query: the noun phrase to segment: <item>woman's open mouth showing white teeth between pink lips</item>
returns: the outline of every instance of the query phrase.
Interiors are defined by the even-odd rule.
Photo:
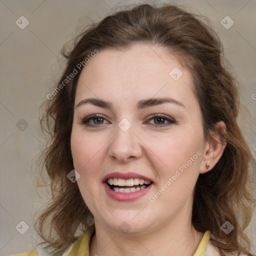
[[[140,178],[108,178],[106,184],[115,192],[129,193],[145,189],[152,182]]]

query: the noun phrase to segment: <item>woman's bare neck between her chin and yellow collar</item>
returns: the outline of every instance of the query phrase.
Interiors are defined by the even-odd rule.
[[[171,221],[162,222],[158,228],[139,234],[117,233],[95,219],[95,235],[91,239],[89,255],[193,256],[203,233],[194,229],[190,216],[183,217],[177,215]]]

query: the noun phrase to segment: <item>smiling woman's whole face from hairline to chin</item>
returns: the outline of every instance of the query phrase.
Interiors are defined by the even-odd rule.
[[[101,50],[82,69],[71,151],[95,223],[146,233],[191,221],[205,147],[191,88],[188,70],[154,45]]]

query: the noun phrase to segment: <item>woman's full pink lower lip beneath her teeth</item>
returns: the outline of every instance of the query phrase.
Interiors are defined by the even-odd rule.
[[[147,186],[144,189],[140,189],[138,191],[128,192],[128,193],[115,192],[106,183],[103,183],[103,185],[105,187],[107,195],[112,199],[116,201],[132,201],[142,197],[147,192],[149,192],[153,183],[151,183],[149,186]]]

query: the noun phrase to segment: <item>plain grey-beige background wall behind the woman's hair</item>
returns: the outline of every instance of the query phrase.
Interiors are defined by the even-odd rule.
[[[255,118],[256,1],[176,2],[188,4],[212,21],[241,83],[242,102]],[[30,168],[33,157],[43,148],[38,107],[59,75],[61,46],[73,38],[80,25],[102,18],[122,3],[132,1],[0,0],[0,255],[27,251],[39,241],[32,216],[47,196],[37,196],[35,173]],[[22,15],[29,21],[24,29],[15,24]],[[229,29],[220,23],[227,15],[234,21]],[[255,121],[241,122],[241,125],[254,153]],[[253,254],[256,254],[255,219],[254,214],[248,228],[254,236]],[[29,226],[24,234],[15,228],[20,221]],[[21,223],[21,226],[24,230],[25,225]]]

